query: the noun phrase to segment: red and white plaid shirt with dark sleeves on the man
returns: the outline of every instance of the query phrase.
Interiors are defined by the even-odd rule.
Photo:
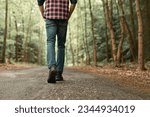
[[[68,19],[69,0],[37,0],[41,6],[45,2],[44,17],[46,19]],[[76,4],[77,0],[70,0],[71,4]]]

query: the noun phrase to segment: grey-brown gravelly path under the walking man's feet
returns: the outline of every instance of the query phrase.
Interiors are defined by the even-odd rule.
[[[150,99],[140,89],[90,73],[65,69],[65,81],[56,84],[48,84],[47,76],[46,67],[0,71],[0,99]]]

